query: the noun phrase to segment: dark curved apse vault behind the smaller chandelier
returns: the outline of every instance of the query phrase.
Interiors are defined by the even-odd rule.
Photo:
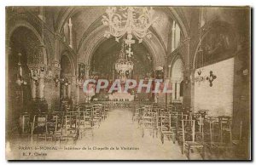
[[[121,43],[117,43],[114,38],[102,42],[96,48],[91,60],[92,71],[97,71],[105,75],[111,75],[113,65],[119,58]],[[131,46],[133,55],[131,61],[134,63],[135,75],[146,75],[146,73],[154,70],[153,57],[149,54],[148,48],[143,43]]]

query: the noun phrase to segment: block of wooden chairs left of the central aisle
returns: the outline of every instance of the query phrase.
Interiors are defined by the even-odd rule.
[[[32,116],[21,116],[21,133],[29,134],[32,143],[35,139],[45,141],[67,141],[92,137],[93,129],[99,128],[108,117],[109,105],[87,104],[75,105],[73,111],[53,111]],[[28,127],[29,126],[29,127]]]

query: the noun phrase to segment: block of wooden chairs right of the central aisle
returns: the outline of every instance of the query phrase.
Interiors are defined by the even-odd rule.
[[[177,141],[182,146],[182,153],[189,159],[192,151],[199,151],[204,159],[206,149],[217,149],[220,154],[220,151],[230,151],[233,147],[231,117],[209,117],[208,110],[192,113],[183,107],[135,105],[132,120],[139,123],[143,136],[148,129],[153,137],[160,132],[162,144],[165,139],[173,143]]]

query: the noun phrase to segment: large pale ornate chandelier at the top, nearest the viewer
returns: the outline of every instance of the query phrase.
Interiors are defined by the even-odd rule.
[[[148,28],[158,20],[154,18],[152,7],[108,7],[106,14],[102,16],[102,23],[109,27],[109,31],[105,31],[104,37],[113,36],[119,42],[125,36],[129,48],[135,43],[133,36],[139,43],[143,42],[143,37],[152,37]]]

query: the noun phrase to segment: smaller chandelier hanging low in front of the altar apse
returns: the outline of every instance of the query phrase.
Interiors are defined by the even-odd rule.
[[[126,51],[127,52],[127,51]],[[130,60],[128,54],[125,54],[125,42],[123,42],[119,52],[119,59],[115,62],[115,70],[119,74],[119,78],[124,81],[127,75],[131,74],[133,70],[133,62]]]

